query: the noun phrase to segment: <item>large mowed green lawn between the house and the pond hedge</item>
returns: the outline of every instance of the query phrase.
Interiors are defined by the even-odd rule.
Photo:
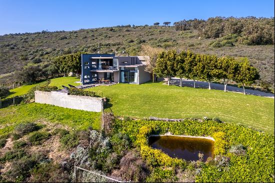
[[[110,98],[115,115],[132,117],[209,118],[241,123],[274,134],[274,99],[160,82],[115,84],[87,90]],[[101,94],[100,94],[101,95]]]

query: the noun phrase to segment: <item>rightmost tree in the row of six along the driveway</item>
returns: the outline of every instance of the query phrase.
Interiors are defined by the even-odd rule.
[[[246,57],[241,58],[238,63],[237,72],[234,76],[234,80],[238,85],[242,85],[243,94],[245,93],[245,86],[253,84],[257,79],[259,79],[259,73],[257,69],[250,65]]]

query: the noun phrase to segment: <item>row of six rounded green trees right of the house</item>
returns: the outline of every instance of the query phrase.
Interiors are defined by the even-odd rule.
[[[245,86],[251,85],[256,79],[259,79],[258,71],[251,66],[247,58],[236,60],[233,57],[217,57],[216,55],[198,54],[189,50],[177,53],[175,50],[161,51],[158,53],[153,72],[157,76],[166,76],[168,85],[171,76],[180,78],[180,86],[182,86],[182,78],[208,81],[210,83],[214,79],[222,79],[224,83],[224,91],[228,81],[235,81],[243,87],[245,94]]]

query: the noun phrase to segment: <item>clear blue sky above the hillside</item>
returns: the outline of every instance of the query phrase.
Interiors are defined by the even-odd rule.
[[[0,35],[214,16],[271,17],[274,0],[0,0]]]

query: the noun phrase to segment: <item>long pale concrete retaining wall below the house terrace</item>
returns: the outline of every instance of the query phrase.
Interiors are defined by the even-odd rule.
[[[35,91],[35,102],[46,103],[65,108],[100,112],[102,98],[90,96],[69,95],[63,92]]]

